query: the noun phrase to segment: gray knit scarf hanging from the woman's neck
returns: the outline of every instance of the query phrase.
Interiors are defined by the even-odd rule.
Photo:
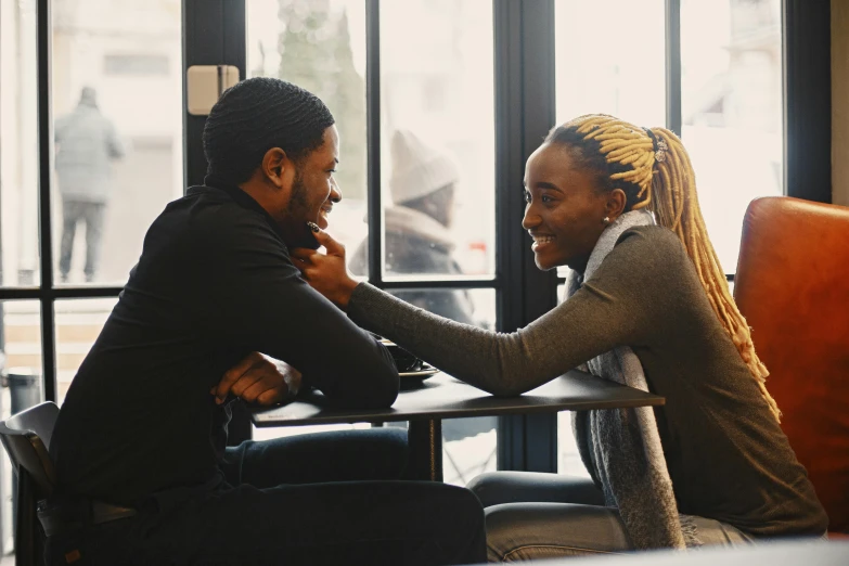
[[[602,232],[583,276],[573,272],[567,299],[590,280],[622,232],[654,224],[652,214],[632,210]],[[580,368],[612,382],[648,390],[640,359],[628,346],[618,346]],[[672,480],[660,446],[654,410],[605,409],[573,413],[573,429],[581,460],[604,492],[605,505],[617,507],[636,549],[699,545],[695,525],[679,516]]]

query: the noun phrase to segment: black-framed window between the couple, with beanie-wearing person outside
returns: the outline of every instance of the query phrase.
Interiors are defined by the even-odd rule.
[[[492,11],[472,0],[373,5],[247,2],[248,73],[305,87],[333,112],[344,198],[329,230],[347,243],[351,271],[419,307],[494,329]],[[368,36],[372,25],[378,37]],[[374,40],[380,48],[370,60]],[[380,75],[369,74],[372,61]],[[380,93],[378,116],[366,111],[370,89]],[[381,139],[371,156],[370,129]],[[370,177],[377,159],[380,173],[374,168]],[[371,230],[375,220],[380,233]],[[370,257],[375,240],[378,261]],[[494,419],[446,423],[446,479],[494,469]]]

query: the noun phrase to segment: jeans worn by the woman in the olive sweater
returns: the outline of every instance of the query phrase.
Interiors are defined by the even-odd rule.
[[[494,472],[468,488],[486,507],[489,562],[518,562],[633,550],[616,509],[590,479]],[[749,543],[752,537],[718,520],[693,517],[705,545]]]

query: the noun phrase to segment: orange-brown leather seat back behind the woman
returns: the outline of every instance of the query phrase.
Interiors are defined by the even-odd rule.
[[[828,530],[849,532],[849,208],[752,201],[734,297]]]

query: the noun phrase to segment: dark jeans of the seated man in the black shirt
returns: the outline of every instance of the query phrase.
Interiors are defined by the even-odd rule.
[[[480,502],[466,489],[398,480],[406,458],[406,433],[388,428],[244,442],[221,466],[228,485],[158,494],[138,516],[91,528],[88,562],[75,564],[484,562]],[[65,564],[69,548],[52,549],[50,564]]]

